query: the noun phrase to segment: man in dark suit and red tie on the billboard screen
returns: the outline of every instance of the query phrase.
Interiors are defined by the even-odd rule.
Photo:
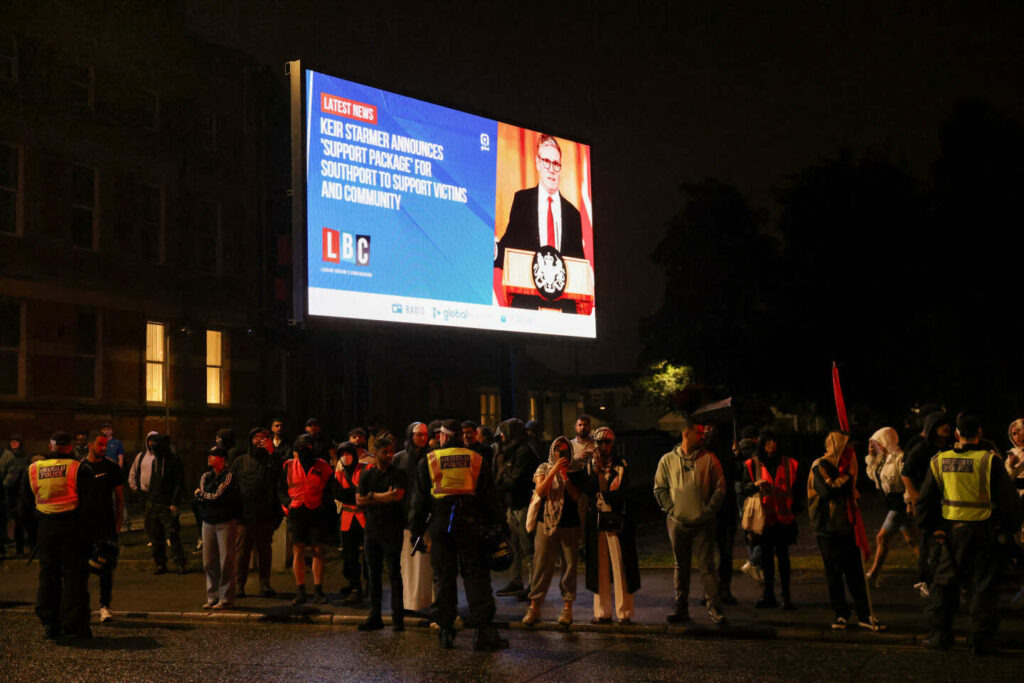
[[[584,258],[583,221],[580,211],[558,191],[562,151],[558,141],[544,135],[537,143],[536,187],[520,189],[512,200],[509,224],[495,249],[495,267],[505,265],[505,249],[537,251],[554,247],[562,256]]]

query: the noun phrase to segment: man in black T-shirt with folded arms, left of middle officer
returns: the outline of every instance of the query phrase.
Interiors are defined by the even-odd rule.
[[[384,628],[381,618],[381,594],[384,563],[391,580],[391,627],[406,630],[406,605],[401,585],[401,535],[404,530],[401,501],[408,483],[406,471],[394,466],[394,442],[390,434],[374,441],[375,467],[360,477],[355,503],[366,510],[367,528],[364,549],[370,573],[370,614],[359,625],[360,631]]]

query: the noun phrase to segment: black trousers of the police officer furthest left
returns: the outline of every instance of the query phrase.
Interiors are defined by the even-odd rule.
[[[45,627],[80,633],[89,627],[89,536],[77,517],[44,518],[37,533],[36,615]]]

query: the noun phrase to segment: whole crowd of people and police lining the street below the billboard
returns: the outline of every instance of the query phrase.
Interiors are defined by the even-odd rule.
[[[36,609],[47,638],[91,635],[90,567],[99,574],[100,621],[112,618],[127,481],[143,504],[158,574],[168,571],[168,549],[176,569],[187,571],[180,512],[190,503],[200,530],[206,609],[227,609],[246,598],[253,562],[258,574],[253,594],[276,596],[270,585],[271,541],[287,520],[296,585],[292,604],[331,599],[324,552],[338,546],[344,580],[338,599],[368,607],[360,630],[384,628],[386,567],[392,629],[404,630],[409,613],[426,615],[441,647],[453,647],[461,574],[469,601],[466,626],[476,629],[474,646],[494,650],[508,645],[493,625],[494,596],[527,603],[522,623],[538,624],[556,566],[557,623],[573,623],[581,552],[587,560],[584,585],[594,594],[591,622],[633,622],[634,595],[641,588],[635,489],[614,431],[592,430],[592,423],[581,415],[571,438],[556,436],[545,447],[540,425],[518,419],[502,422],[496,432],[471,421],[413,422],[400,443],[386,430],[362,427],[336,441],[315,418],[289,439],[284,421],[273,420],[268,428],[251,429],[240,445],[231,430],[217,432],[206,454],[208,468],[195,486],[186,485],[185,468],[166,434],[150,432],[130,463],[111,425],[92,435],[57,432],[51,453],[32,458],[15,434],[0,456],[3,530],[15,553],[33,547],[38,552]],[[748,552],[742,570],[763,584],[755,606],[796,609],[790,547],[806,507],[824,565],[833,629],[885,630],[869,585],[880,581],[891,540],[900,531],[919,558],[914,588],[930,600],[926,645],[951,645],[953,614],[966,590],[972,647],[991,648],[1000,568],[1019,556],[1017,542],[1024,541],[1018,496],[1024,489],[1024,420],[1010,426],[1005,460],[969,415],[954,421],[940,411],[930,413],[905,455],[895,429],[876,431],[864,469],[887,515],[869,568],[858,507],[860,466],[849,434],[827,435],[824,455],[810,464],[806,480],[770,429],[744,428],[731,447],[722,436],[714,425],[684,417],[680,443],[660,458],[654,474],[653,496],[666,515],[675,559],[669,623],[691,620],[694,555],[708,618],[726,623],[725,606],[737,602],[732,556],[740,529]],[[6,545],[6,540],[0,544],[0,552]],[[488,554],[499,546],[511,549],[511,561],[502,564],[510,568],[510,579],[495,592]]]

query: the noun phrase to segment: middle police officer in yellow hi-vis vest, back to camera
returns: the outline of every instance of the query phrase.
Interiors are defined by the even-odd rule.
[[[424,532],[429,537],[440,646],[455,647],[456,578],[461,571],[469,601],[466,626],[476,628],[473,647],[496,650],[509,643],[494,626],[495,598],[482,540],[488,525],[502,523],[502,514],[490,466],[480,454],[462,445],[461,433],[458,420],[445,420],[439,447],[420,462],[410,528],[414,539],[422,539]]]

